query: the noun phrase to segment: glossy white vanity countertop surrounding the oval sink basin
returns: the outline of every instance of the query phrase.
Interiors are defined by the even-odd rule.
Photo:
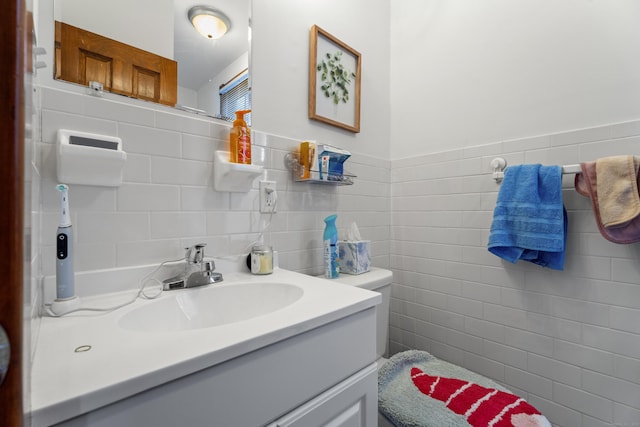
[[[224,274],[224,270],[222,271]],[[54,424],[250,351],[373,307],[376,292],[275,269],[273,274],[224,274],[224,285],[281,282],[304,289],[295,303],[259,317],[202,329],[132,331],[118,325],[127,313],[154,301],[138,299],[107,314],[72,313],[41,319],[32,366],[32,426]],[[209,285],[217,286],[217,285]],[[184,289],[164,292],[169,298]],[[127,300],[132,291],[82,299]],[[111,302],[113,304],[113,302]],[[89,351],[76,352],[80,346]]]

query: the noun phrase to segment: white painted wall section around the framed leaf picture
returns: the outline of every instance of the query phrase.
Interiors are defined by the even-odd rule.
[[[253,2],[256,129],[389,157],[389,1]],[[309,30],[318,25],[362,54],[361,131],[308,119]]]

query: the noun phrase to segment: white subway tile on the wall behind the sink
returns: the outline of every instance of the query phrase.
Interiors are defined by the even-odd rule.
[[[227,149],[230,125],[143,103],[55,88],[38,91],[41,176],[35,181],[42,228],[35,250],[41,275],[55,272],[55,141],[60,128],[119,136],[128,157],[119,188],[70,185],[77,271],[160,263],[180,258],[185,246],[197,242],[207,243],[211,256],[247,253],[247,245],[268,223],[269,215],[258,209],[259,179],[248,193],[213,188],[214,152]],[[253,162],[265,167],[262,179],[277,182],[278,212],[265,241],[280,252],[282,267],[321,273],[323,218],[331,213],[338,214],[343,233],[356,221],[373,241],[374,265],[389,266],[390,161],[355,154],[348,168],[358,177],[350,187],[294,183],[285,155],[299,141],[255,132],[253,142]]]

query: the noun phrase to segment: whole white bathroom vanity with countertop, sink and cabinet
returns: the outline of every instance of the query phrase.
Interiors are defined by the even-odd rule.
[[[376,425],[379,294],[281,269],[223,274],[108,314],[43,318],[32,426]],[[209,314],[223,311],[214,297],[231,320]]]

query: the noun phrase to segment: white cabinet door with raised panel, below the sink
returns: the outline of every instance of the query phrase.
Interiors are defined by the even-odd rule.
[[[377,372],[374,363],[267,427],[376,426]]]

